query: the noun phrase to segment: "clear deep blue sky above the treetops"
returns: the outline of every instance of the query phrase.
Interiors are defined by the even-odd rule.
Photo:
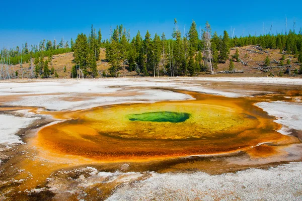
[[[165,32],[169,38],[174,18],[182,32],[184,27],[189,30],[194,19],[202,28],[208,21],[218,35],[223,30],[231,35],[231,27],[237,36],[243,30],[244,35],[260,35],[263,23],[267,33],[271,24],[274,34],[284,33],[285,15],[287,29],[293,29],[295,19],[298,31],[302,27],[302,1],[2,1],[0,48],[22,46],[25,41],[29,45],[43,39],[60,41],[62,37],[70,42],[78,33],[89,34],[91,24],[101,28],[103,39],[109,38],[110,27],[120,24],[130,29],[131,37],[137,30],[142,36],[149,30],[152,36]]]

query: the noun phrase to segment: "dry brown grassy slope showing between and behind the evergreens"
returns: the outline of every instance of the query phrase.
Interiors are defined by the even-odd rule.
[[[280,61],[282,54],[279,53],[279,50],[276,49],[269,49],[268,54],[264,53],[263,54],[258,54],[258,53],[249,53],[249,51],[245,49],[252,49],[253,46],[247,46],[247,47],[240,47],[239,49],[239,58],[243,59],[244,61],[248,61],[248,66],[244,66],[240,62],[234,62],[235,64],[235,69],[236,70],[244,70],[244,73],[235,73],[235,74],[215,74],[215,75],[209,75],[208,73],[199,73],[198,76],[236,76],[236,77],[249,77],[249,76],[267,76],[270,74],[270,72],[262,72],[257,69],[253,69],[253,67],[258,67],[258,64],[255,61],[264,61],[265,57],[269,55],[269,58],[271,61],[273,61],[273,58],[277,61]],[[230,55],[235,54],[235,49],[231,50]],[[247,55],[247,57],[246,57]],[[231,56],[230,56],[231,57]],[[297,64],[297,59],[293,58],[293,55],[285,55],[285,59],[290,58],[290,64],[292,65],[292,69],[294,68],[299,68],[300,65]],[[45,57],[47,59],[47,57]],[[52,57],[52,64],[49,63],[49,69],[51,68],[51,65],[53,65],[54,69],[57,71],[59,78],[70,78],[70,72],[71,72],[71,67],[74,65],[72,63],[73,60],[73,53],[64,53],[64,54],[59,54],[59,55],[54,55]],[[226,63],[218,64],[218,69],[215,71],[222,71],[222,70],[228,70],[229,69],[229,63],[230,61],[226,61]],[[271,64],[271,65],[277,65],[277,64]],[[286,60],[284,61],[284,65],[286,65]],[[66,72],[63,72],[64,66],[66,66]],[[97,69],[99,72],[102,72],[105,69],[108,69],[110,65],[105,59],[105,49],[101,49],[100,52],[100,60],[97,61]],[[15,71],[17,70],[19,73],[19,78],[21,77],[21,67],[19,65],[13,66]],[[276,68],[272,70],[271,72],[275,75],[278,76],[279,68]],[[284,69],[285,70],[285,69]],[[135,72],[128,72],[127,70],[120,70],[120,75],[121,76],[136,76],[137,74]],[[29,75],[29,64],[23,64],[23,77],[27,78]],[[101,75],[99,75],[101,76]],[[288,76],[288,75],[284,75]]]

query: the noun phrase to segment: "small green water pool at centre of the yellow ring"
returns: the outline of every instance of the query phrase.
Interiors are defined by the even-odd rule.
[[[143,122],[184,122],[190,118],[189,113],[176,113],[176,112],[153,112],[128,115],[130,121],[143,121]]]

